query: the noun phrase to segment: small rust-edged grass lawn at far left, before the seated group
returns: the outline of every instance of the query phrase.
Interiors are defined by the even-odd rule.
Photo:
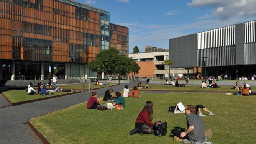
[[[51,97],[56,95],[61,95],[65,93],[71,93],[71,92],[56,92],[53,95],[28,95],[28,92],[26,90],[8,90],[5,92],[2,92],[8,100],[10,100],[12,103],[17,103],[20,101],[26,101],[26,100],[34,100],[38,98],[44,98],[44,97]]]

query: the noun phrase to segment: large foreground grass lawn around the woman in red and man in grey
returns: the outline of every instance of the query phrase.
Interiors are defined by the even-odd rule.
[[[30,119],[30,122],[52,144],[181,144],[167,134],[129,135],[135,120],[146,101],[153,102],[153,121],[167,122],[167,133],[180,126],[187,128],[185,114],[168,112],[169,106],[182,101],[184,105],[201,104],[215,116],[203,117],[205,127],[213,131],[214,144],[251,144],[256,131],[256,111],[251,110],[256,97],[241,97],[222,93],[170,92],[169,94],[145,93],[141,98],[125,98],[124,110],[87,110],[86,103]]]

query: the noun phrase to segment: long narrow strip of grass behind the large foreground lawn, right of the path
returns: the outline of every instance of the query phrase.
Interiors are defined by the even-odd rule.
[[[146,86],[147,84],[143,84],[143,86]],[[200,85],[194,86],[194,85],[189,85],[187,87],[174,87],[174,85],[162,85],[162,84],[148,84],[150,89],[153,90],[202,90],[202,91],[207,91],[207,90],[228,90],[230,92],[234,91],[239,91],[239,90],[234,90],[233,85],[232,86],[220,86],[220,88],[201,88]],[[132,88],[130,88],[131,90]],[[145,90],[150,90],[150,89],[145,89]],[[251,87],[252,91],[256,90],[256,87]]]

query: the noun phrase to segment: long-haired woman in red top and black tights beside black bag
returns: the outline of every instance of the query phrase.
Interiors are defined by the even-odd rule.
[[[151,134],[154,133],[153,129],[151,129],[154,124],[151,123],[153,119],[153,103],[151,101],[147,101],[143,110],[139,113],[136,122],[135,128],[130,131],[130,135],[135,133],[143,134]],[[156,125],[158,125],[159,121],[156,121]]]

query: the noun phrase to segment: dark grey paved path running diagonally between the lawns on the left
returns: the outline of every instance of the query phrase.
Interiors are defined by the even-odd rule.
[[[99,96],[113,88],[114,92],[121,91],[126,84],[95,90]],[[129,83],[132,87],[137,83]],[[160,93],[160,92],[158,92]],[[7,101],[0,95],[0,144],[41,144],[40,139],[27,126],[28,119],[44,115],[53,111],[61,110],[72,105],[85,102],[91,92],[82,92],[74,95],[37,101],[18,106],[8,106]]]

